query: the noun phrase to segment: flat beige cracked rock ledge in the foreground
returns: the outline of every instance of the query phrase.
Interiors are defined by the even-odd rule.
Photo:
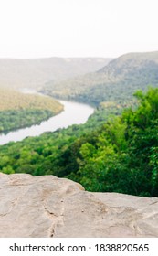
[[[158,198],[90,193],[56,176],[0,174],[0,237],[158,237]]]

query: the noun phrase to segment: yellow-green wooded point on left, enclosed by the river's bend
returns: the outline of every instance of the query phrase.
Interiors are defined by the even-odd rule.
[[[50,97],[0,89],[0,132],[40,123],[62,110]]]

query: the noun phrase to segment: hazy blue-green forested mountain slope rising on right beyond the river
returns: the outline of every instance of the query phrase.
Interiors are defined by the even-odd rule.
[[[42,89],[56,98],[89,102],[128,103],[134,91],[158,86],[158,52],[130,53],[111,62],[98,72],[73,79],[49,81]]]

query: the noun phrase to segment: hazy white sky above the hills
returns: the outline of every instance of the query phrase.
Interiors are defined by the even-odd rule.
[[[0,0],[0,58],[158,50],[157,0]]]

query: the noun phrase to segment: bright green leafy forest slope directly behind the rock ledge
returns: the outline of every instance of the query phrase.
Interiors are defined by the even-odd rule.
[[[90,191],[158,197],[158,89],[137,108],[0,147],[0,170],[71,178]],[[94,127],[96,126],[96,129]]]

